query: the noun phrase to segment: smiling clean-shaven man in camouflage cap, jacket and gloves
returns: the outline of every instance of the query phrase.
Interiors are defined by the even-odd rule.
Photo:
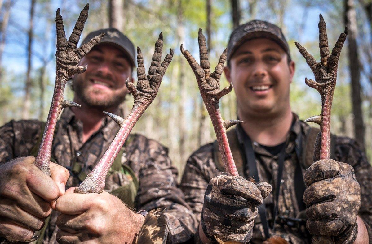
[[[250,191],[251,182],[223,176],[217,141],[202,146],[187,161],[181,182],[200,221],[195,238],[219,243],[263,243],[273,235],[288,243],[371,241],[372,168],[355,141],[332,136],[332,158],[338,162],[318,161],[318,168],[308,171],[312,177],[305,179],[310,185],[305,191],[304,174],[313,163],[320,130],[291,111],[295,63],[280,28],[260,20],[237,27],[224,72],[234,84],[238,119],[244,121],[227,132],[239,175],[267,182],[273,190],[256,208],[262,197]],[[341,165],[337,174],[330,174],[329,162]],[[229,204],[235,201],[239,204]],[[324,241],[324,236],[331,239]]]

